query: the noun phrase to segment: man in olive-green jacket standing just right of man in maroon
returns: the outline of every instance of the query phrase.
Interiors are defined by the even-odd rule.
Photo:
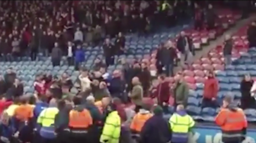
[[[178,82],[174,84],[175,106],[178,104],[182,104],[185,107],[187,106],[188,90],[187,83],[184,81],[184,77],[181,76]]]

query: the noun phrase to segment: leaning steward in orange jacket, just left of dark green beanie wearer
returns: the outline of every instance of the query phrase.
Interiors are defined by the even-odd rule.
[[[139,112],[133,117],[130,125],[132,137],[139,139],[139,134],[144,126],[145,122],[151,118],[153,114],[150,113],[150,105],[144,105],[143,108],[139,109]]]

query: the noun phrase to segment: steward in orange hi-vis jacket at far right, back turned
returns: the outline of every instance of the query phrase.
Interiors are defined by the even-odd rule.
[[[232,97],[223,99],[223,107],[215,118],[221,127],[223,143],[241,143],[246,137],[247,120],[241,108],[232,103]]]

